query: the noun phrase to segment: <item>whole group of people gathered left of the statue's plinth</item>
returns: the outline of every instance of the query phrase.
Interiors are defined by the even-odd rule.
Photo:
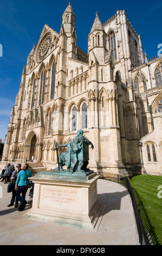
[[[28,178],[31,177],[32,174],[31,174],[31,171],[28,169],[29,168],[28,163],[25,163],[22,169],[21,169],[21,163],[18,163],[16,168],[17,168],[16,170],[14,168],[14,171],[11,172],[10,164],[8,164],[8,166],[4,169],[4,174],[2,173],[1,174],[2,174],[2,178],[4,176],[4,179],[7,176],[6,174],[9,174],[8,175],[9,181],[10,179],[12,181],[12,198],[8,207],[14,205],[15,203],[15,208],[16,208],[18,207],[18,202],[20,202],[21,204],[18,208],[18,211],[23,211],[25,205],[27,204],[27,201],[25,200],[25,196],[30,184],[30,180]],[[7,181],[6,180],[4,183],[8,182],[8,180]]]

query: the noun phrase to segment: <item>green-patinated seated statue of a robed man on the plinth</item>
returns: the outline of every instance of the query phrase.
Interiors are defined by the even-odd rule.
[[[67,147],[66,152],[61,152],[59,154],[59,172],[63,172],[62,167],[64,165],[67,167],[67,170],[64,171],[69,173],[85,173],[86,171],[89,171],[87,168],[89,160],[88,146],[91,145],[92,149],[94,146],[87,137],[83,136],[83,130],[78,130],[76,134],[77,136],[67,144],[59,145],[55,142],[56,150],[57,147]]]

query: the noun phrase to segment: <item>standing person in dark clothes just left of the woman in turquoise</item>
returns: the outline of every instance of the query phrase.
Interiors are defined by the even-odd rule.
[[[15,203],[15,208],[18,206],[18,200],[17,200],[17,197],[16,197],[15,185],[16,185],[16,179],[17,179],[18,173],[21,170],[21,163],[18,163],[16,168],[17,169],[14,170],[14,172],[12,173],[12,176],[11,176],[11,180],[12,180],[12,198],[11,198],[10,204],[8,205],[8,207],[10,207],[10,206],[14,205],[14,203]],[[15,197],[16,197],[16,200],[15,200]]]

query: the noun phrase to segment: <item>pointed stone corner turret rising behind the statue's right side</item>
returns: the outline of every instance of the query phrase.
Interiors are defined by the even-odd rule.
[[[114,80],[112,52],[106,49],[106,32],[98,13],[89,33],[89,129],[94,141],[93,168],[127,173],[121,160],[120,129],[118,121],[118,94]],[[108,148],[113,144],[110,155]],[[112,156],[113,155],[113,156]],[[96,165],[96,166],[95,166]]]

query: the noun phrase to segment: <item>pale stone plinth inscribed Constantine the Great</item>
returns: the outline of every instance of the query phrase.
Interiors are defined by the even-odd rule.
[[[33,207],[29,218],[78,228],[96,228],[105,208],[97,202],[95,173],[85,178],[59,173],[40,173],[30,178],[34,182]],[[96,225],[96,223],[98,224]]]

